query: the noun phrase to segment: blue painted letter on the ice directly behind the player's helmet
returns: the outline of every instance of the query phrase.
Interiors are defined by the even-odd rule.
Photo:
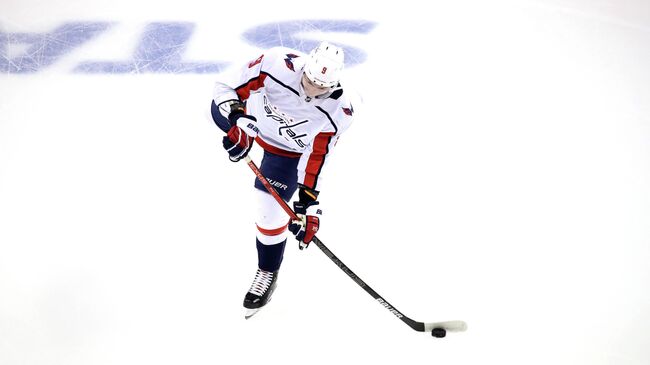
[[[260,48],[284,46],[308,53],[314,49],[321,39],[313,36],[309,39],[309,32],[341,32],[341,33],[370,33],[376,23],[363,20],[296,20],[260,25],[244,32],[243,37],[251,44]],[[345,64],[352,66],[366,60],[366,53],[362,50],[343,46],[345,51]]]

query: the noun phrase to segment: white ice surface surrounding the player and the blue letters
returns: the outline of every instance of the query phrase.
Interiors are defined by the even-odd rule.
[[[120,25],[0,75],[0,364],[650,363],[647,1],[423,3],[2,2],[4,32]],[[244,320],[253,175],[206,119],[214,75],[71,72],[148,22],[194,22],[189,57],[238,63],[261,51],[244,30],[313,18],[377,22],[328,35],[368,59],[319,237],[465,333],[412,331],[293,241]]]

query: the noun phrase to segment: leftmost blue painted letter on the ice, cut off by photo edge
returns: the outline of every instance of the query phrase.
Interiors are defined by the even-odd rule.
[[[3,33],[0,31],[0,71],[33,73],[108,29],[109,23],[66,23],[49,33]],[[27,46],[11,57],[9,47]]]

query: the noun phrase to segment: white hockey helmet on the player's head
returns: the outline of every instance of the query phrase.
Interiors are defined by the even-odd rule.
[[[335,87],[343,71],[343,48],[322,42],[309,53],[305,63],[305,75],[321,87]]]

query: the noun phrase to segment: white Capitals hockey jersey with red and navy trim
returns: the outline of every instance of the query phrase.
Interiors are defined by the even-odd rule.
[[[258,121],[255,141],[268,152],[300,157],[298,183],[319,191],[322,170],[352,123],[354,108],[340,84],[323,96],[305,95],[300,81],[306,57],[293,49],[271,48],[245,65],[238,80],[218,81],[214,102],[224,117],[230,112],[224,107],[227,101],[245,102],[246,113]]]

